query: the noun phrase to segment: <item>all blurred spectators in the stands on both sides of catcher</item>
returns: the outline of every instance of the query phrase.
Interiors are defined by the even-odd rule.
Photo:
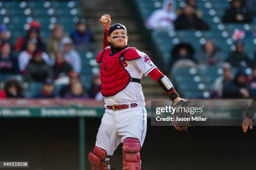
[[[204,14],[197,0],[184,0],[181,6],[177,0],[164,0],[161,8],[155,10],[145,23],[149,30],[211,30],[204,20]],[[183,1],[182,1],[183,2]],[[231,0],[222,17],[224,24],[251,23],[256,15],[256,0]],[[8,28],[0,25],[0,98],[26,97],[26,84],[43,83],[32,97],[102,100],[100,76],[92,76],[91,87],[81,81],[81,49],[90,49],[95,42],[86,20],[79,19],[76,29],[65,35],[65,25],[56,23],[50,37],[42,37],[41,24],[33,20],[24,35],[15,44],[10,42]],[[170,67],[222,67],[223,75],[215,80],[212,98],[256,97],[256,53],[254,59],[248,56],[245,43],[237,38],[235,49],[228,57],[218,44],[210,38],[199,49],[188,42],[180,42],[172,48]],[[233,68],[238,70],[233,71]],[[251,68],[251,75],[246,74]],[[22,79],[10,77],[3,82],[3,75],[20,75]],[[55,90],[56,85],[61,85]]]

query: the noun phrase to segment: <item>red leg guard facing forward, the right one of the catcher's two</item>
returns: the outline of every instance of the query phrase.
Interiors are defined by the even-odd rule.
[[[141,144],[136,138],[123,140],[123,170],[141,170]]]

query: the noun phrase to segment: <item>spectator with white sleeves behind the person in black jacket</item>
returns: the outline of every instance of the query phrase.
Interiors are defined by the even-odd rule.
[[[18,63],[20,72],[24,73],[26,66],[28,65],[29,60],[32,58],[33,52],[37,49],[37,40],[35,38],[31,38],[27,42],[26,50],[21,51],[18,56]],[[42,53],[43,60],[48,65],[54,65],[54,58],[49,58],[49,55],[46,52]]]

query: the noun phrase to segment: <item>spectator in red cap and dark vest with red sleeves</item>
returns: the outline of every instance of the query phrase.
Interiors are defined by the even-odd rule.
[[[29,24],[29,28],[27,30],[25,37],[18,37],[18,40],[15,45],[15,51],[23,51],[26,50],[27,42],[31,38],[35,38],[37,40],[37,49],[41,51],[45,51],[45,44],[43,42],[43,38],[40,37],[40,28],[41,25],[38,21],[34,20]]]

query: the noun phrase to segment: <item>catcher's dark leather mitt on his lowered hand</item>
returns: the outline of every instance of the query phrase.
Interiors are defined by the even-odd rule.
[[[188,104],[189,102],[187,99],[181,99],[177,104],[174,102],[172,103],[172,107],[177,107],[176,111],[172,114],[172,117],[174,118],[172,125],[176,130],[187,131],[187,127],[190,124],[190,119],[187,119],[189,118],[189,112],[186,112]]]

